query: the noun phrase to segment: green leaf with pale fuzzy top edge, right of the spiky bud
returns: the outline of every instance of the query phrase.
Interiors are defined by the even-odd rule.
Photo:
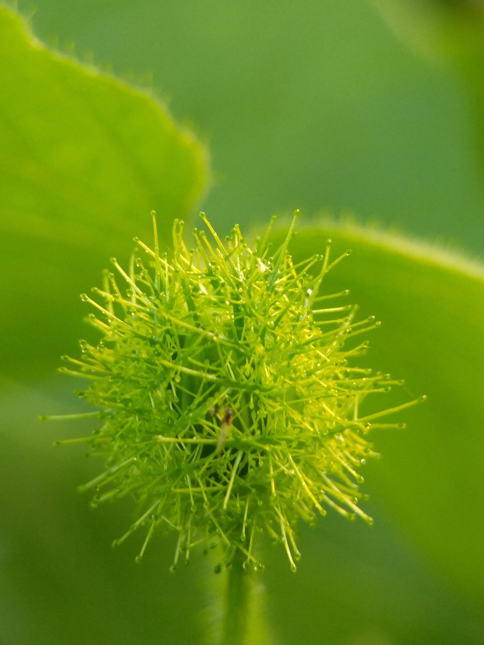
[[[429,396],[405,412],[407,430],[373,433],[383,457],[368,467],[368,490],[431,561],[484,603],[484,266],[328,223],[299,231],[295,260],[321,252],[327,238],[335,257],[353,253],[328,274],[325,292],[350,288],[361,316],[383,321],[365,360],[405,379],[408,399]]]

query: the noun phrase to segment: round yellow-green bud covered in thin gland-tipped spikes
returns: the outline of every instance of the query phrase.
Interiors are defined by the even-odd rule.
[[[351,366],[367,343],[345,342],[379,323],[357,323],[356,306],[332,302],[347,292],[322,293],[344,257],[330,263],[329,243],[292,263],[296,217],[271,255],[270,226],[250,248],[238,226],[223,243],[202,216],[212,239],[194,230],[190,250],[176,222],[174,250],[160,255],[154,220],[154,250],[136,240],[145,260],[133,257],[125,272],[113,259],[119,276],[106,273],[94,290],[102,304],[83,296],[102,340],[81,342],[65,372],[91,380],[81,396],[102,424],[85,441],[106,459],[83,488],[96,491],[94,504],[134,497],[139,515],[115,544],[145,526],[137,559],[154,531],[171,530],[174,566],[199,544],[221,543],[226,564],[238,553],[259,568],[265,531],[296,570],[300,519],[332,508],[372,523],[358,505],[359,466],[375,454],[365,436],[399,408],[359,415],[392,381]]]

